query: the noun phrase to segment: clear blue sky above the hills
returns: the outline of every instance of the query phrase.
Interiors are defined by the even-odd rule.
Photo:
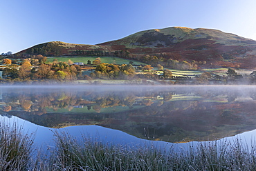
[[[97,44],[172,26],[256,40],[255,0],[1,0],[0,9],[0,53],[48,41]]]

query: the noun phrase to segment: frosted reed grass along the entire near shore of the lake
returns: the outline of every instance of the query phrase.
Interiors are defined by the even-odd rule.
[[[256,170],[255,145],[217,140],[173,144],[114,145],[82,135],[55,131],[55,146],[36,155],[33,136],[17,125],[0,126],[0,170]],[[255,143],[254,143],[255,144]]]

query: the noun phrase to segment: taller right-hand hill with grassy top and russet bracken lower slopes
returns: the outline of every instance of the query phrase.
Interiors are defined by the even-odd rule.
[[[111,50],[152,54],[179,61],[209,61],[214,66],[255,66],[256,41],[220,30],[172,27],[146,30],[116,41],[100,43]]]

